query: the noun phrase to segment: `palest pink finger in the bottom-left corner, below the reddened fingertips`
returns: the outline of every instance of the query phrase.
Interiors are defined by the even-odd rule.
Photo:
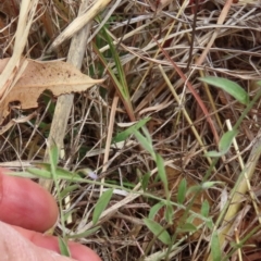
[[[12,226],[0,222],[1,260],[7,261],[73,261],[57,252],[37,247]]]

